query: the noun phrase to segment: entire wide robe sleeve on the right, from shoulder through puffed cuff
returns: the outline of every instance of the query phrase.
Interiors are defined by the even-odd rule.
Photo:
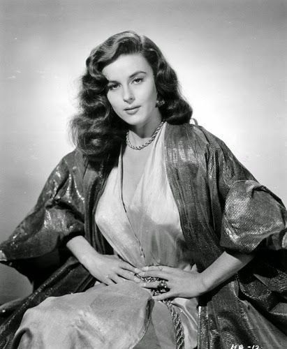
[[[286,249],[287,212],[283,203],[260,185],[226,144],[213,135],[208,172],[213,211],[220,217],[220,245],[224,249],[240,253],[251,253],[256,248]]]

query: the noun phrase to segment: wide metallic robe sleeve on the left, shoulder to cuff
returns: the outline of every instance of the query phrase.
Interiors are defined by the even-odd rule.
[[[84,235],[82,172],[83,161],[78,151],[59,162],[35,207],[0,244],[1,262],[15,267],[17,260],[46,255],[71,237]]]

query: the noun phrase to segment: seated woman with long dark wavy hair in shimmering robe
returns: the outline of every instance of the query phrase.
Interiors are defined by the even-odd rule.
[[[284,205],[189,124],[159,48],[131,31],[108,38],[80,98],[77,149],[0,245],[41,283],[1,348],[284,348]],[[44,282],[39,258],[59,265]]]

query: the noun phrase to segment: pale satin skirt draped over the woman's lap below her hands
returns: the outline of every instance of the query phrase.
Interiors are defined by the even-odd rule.
[[[13,348],[168,349],[174,336],[165,305],[126,282],[47,298],[24,314]]]

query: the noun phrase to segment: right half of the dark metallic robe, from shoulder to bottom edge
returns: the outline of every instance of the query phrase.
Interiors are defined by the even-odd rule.
[[[172,126],[166,135],[169,183],[198,271],[223,251],[255,253],[237,274],[200,297],[198,347],[285,348],[284,205],[203,128]]]

